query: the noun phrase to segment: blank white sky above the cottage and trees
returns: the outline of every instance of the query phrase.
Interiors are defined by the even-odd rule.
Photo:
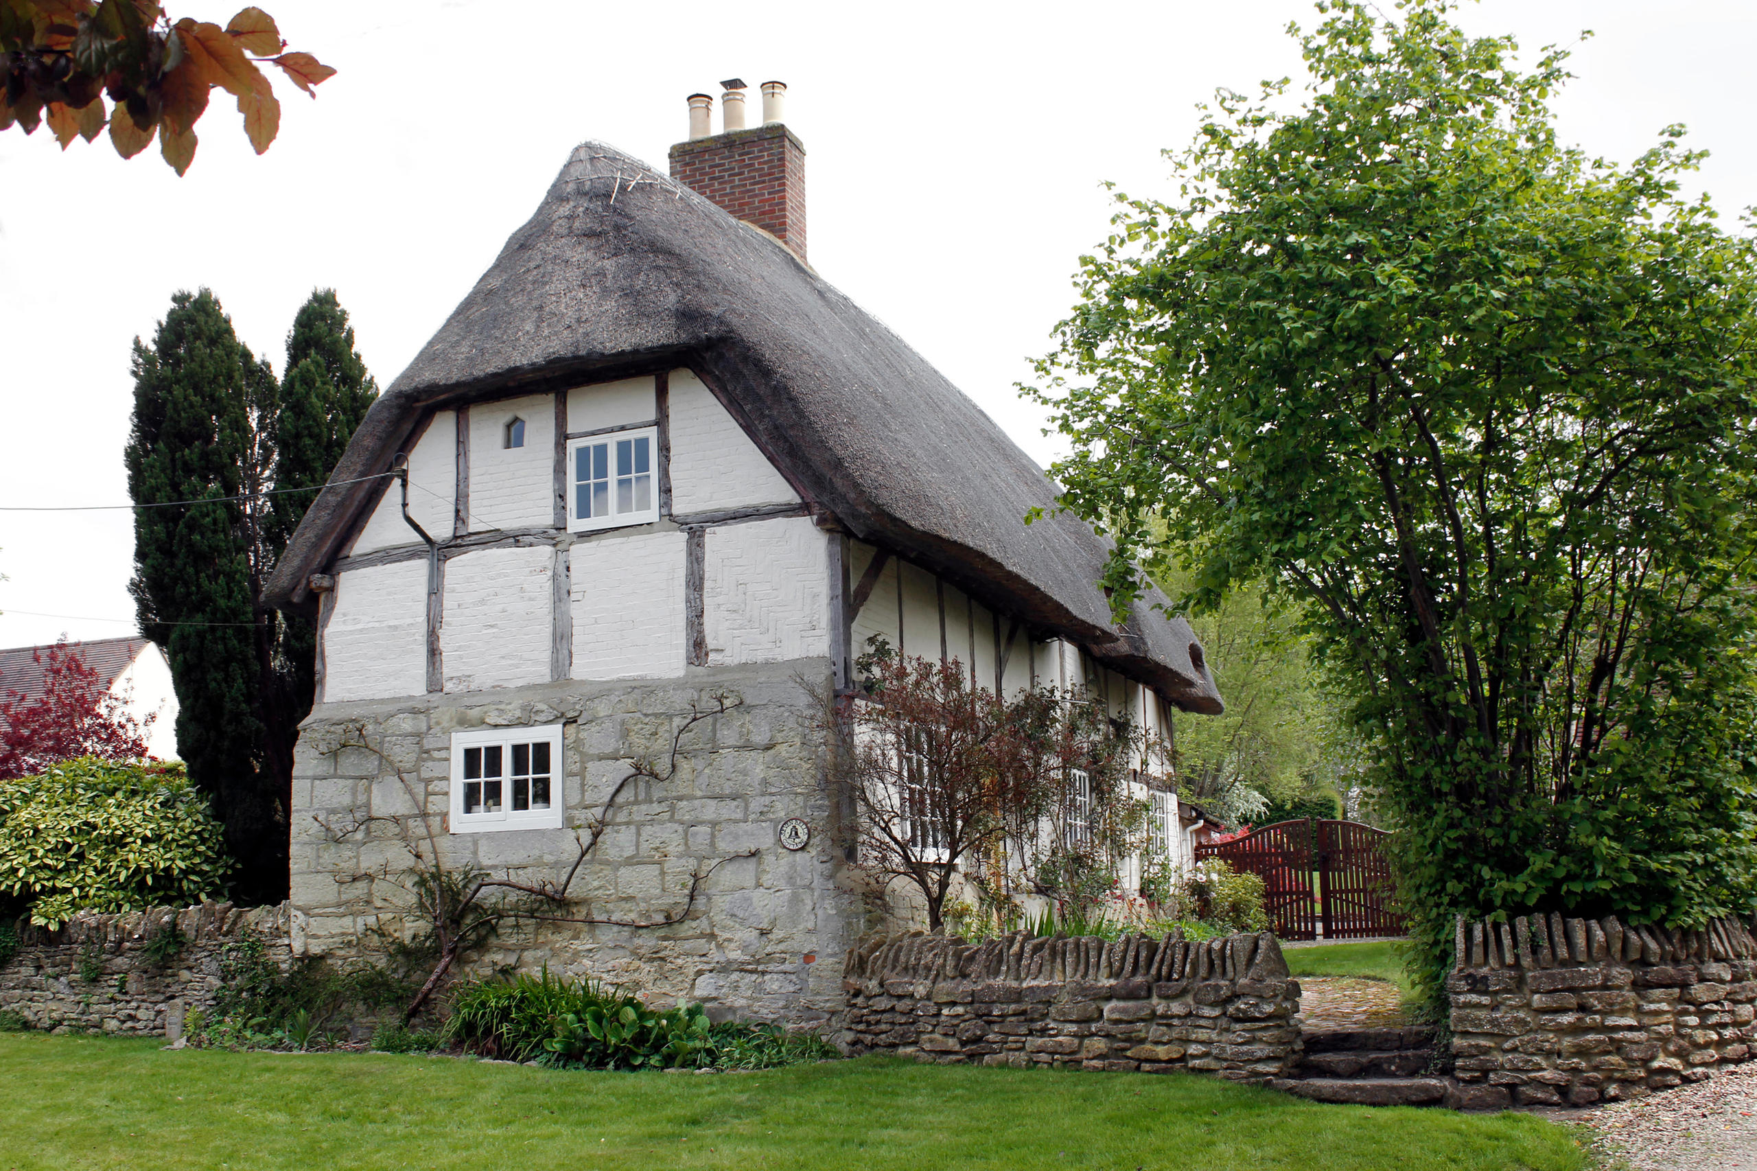
[[[169,7],[225,21],[235,2]],[[683,97],[734,76],[757,118],[756,83],[789,84],[813,267],[1047,462],[1012,385],[1105,234],[1100,183],[1168,195],[1158,151],[1189,141],[1193,105],[1297,74],[1283,28],[1316,23],[1305,0],[262,4],[341,72],[315,102],[276,84],[260,158],[218,91],[183,179],[156,144],[123,162],[104,137],[63,155],[46,130],[0,132],[0,505],[127,503],[130,341],[172,292],[211,287],[279,369],[293,313],[334,287],[388,387],[576,142],[664,167]],[[1564,137],[1627,160],[1683,121],[1715,153],[1701,185],[1727,225],[1757,204],[1757,7],[1488,0],[1462,19],[1527,49],[1594,28]],[[130,633],[132,554],[127,512],[0,512],[0,647]]]

